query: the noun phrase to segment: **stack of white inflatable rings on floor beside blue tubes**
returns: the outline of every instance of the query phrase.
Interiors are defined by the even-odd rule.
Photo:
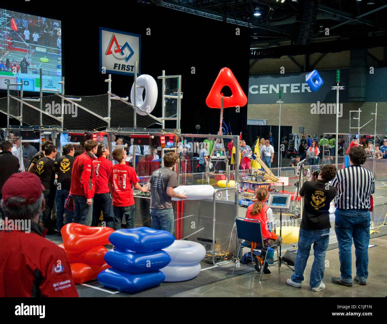
[[[176,240],[170,247],[163,249],[171,257],[171,262],[163,269],[164,281],[185,281],[200,273],[200,261],[205,257],[205,248],[197,242]]]

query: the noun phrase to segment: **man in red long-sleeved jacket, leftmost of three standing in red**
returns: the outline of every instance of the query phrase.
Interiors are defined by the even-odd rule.
[[[75,205],[74,223],[91,226],[95,191],[93,155],[97,153],[98,143],[93,140],[87,140],[84,146],[86,152],[78,155],[74,160],[70,194],[73,195]]]

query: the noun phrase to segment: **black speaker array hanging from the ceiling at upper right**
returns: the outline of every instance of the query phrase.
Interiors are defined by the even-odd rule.
[[[301,0],[296,18],[294,41],[296,44],[309,45],[315,30],[319,0]]]

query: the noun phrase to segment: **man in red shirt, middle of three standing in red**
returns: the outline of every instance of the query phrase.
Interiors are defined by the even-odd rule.
[[[93,220],[91,226],[98,226],[101,211],[103,213],[103,225],[113,228],[113,198],[111,197],[108,182],[112,164],[108,160],[109,148],[101,143],[97,148],[97,159],[93,160],[93,172],[95,175],[95,193],[93,201]]]

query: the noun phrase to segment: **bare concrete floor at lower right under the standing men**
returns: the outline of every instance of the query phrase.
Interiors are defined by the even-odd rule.
[[[387,235],[370,240],[375,245],[368,249],[369,265],[368,280],[366,286],[360,286],[353,282],[352,287],[344,287],[331,282],[331,277],[340,276],[340,263],[338,249],[326,252],[325,260],[329,261],[329,267],[325,268],[323,282],[325,290],[313,292],[309,286],[310,269],[313,263],[313,255],[309,257],[304,272],[305,280],[302,288],[294,288],[286,284],[291,277],[292,271],[281,266],[281,274],[278,274],[277,264],[271,268],[271,274],[263,275],[259,281],[259,274],[252,269],[233,278],[217,281],[209,285],[201,286],[187,292],[173,295],[173,297],[386,297],[387,295]],[[231,267],[233,264],[226,264],[222,267]],[[247,267],[241,264],[242,267]],[[245,268],[243,268],[245,269]],[[236,269],[236,273],[238,268]],[[352,248],[352,276],[356,274],[354,247]]]

